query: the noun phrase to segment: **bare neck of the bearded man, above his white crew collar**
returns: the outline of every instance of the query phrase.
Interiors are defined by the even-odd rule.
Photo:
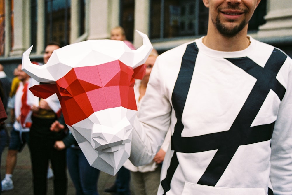
[[[207,35],[203,38],[203,43],[208,48],[218,51],[241,51],[246,49],[249,44],[247,37],[247,27],[241,30],[237,35],[229,37],[220,34],[217,30],[208,31]]]

